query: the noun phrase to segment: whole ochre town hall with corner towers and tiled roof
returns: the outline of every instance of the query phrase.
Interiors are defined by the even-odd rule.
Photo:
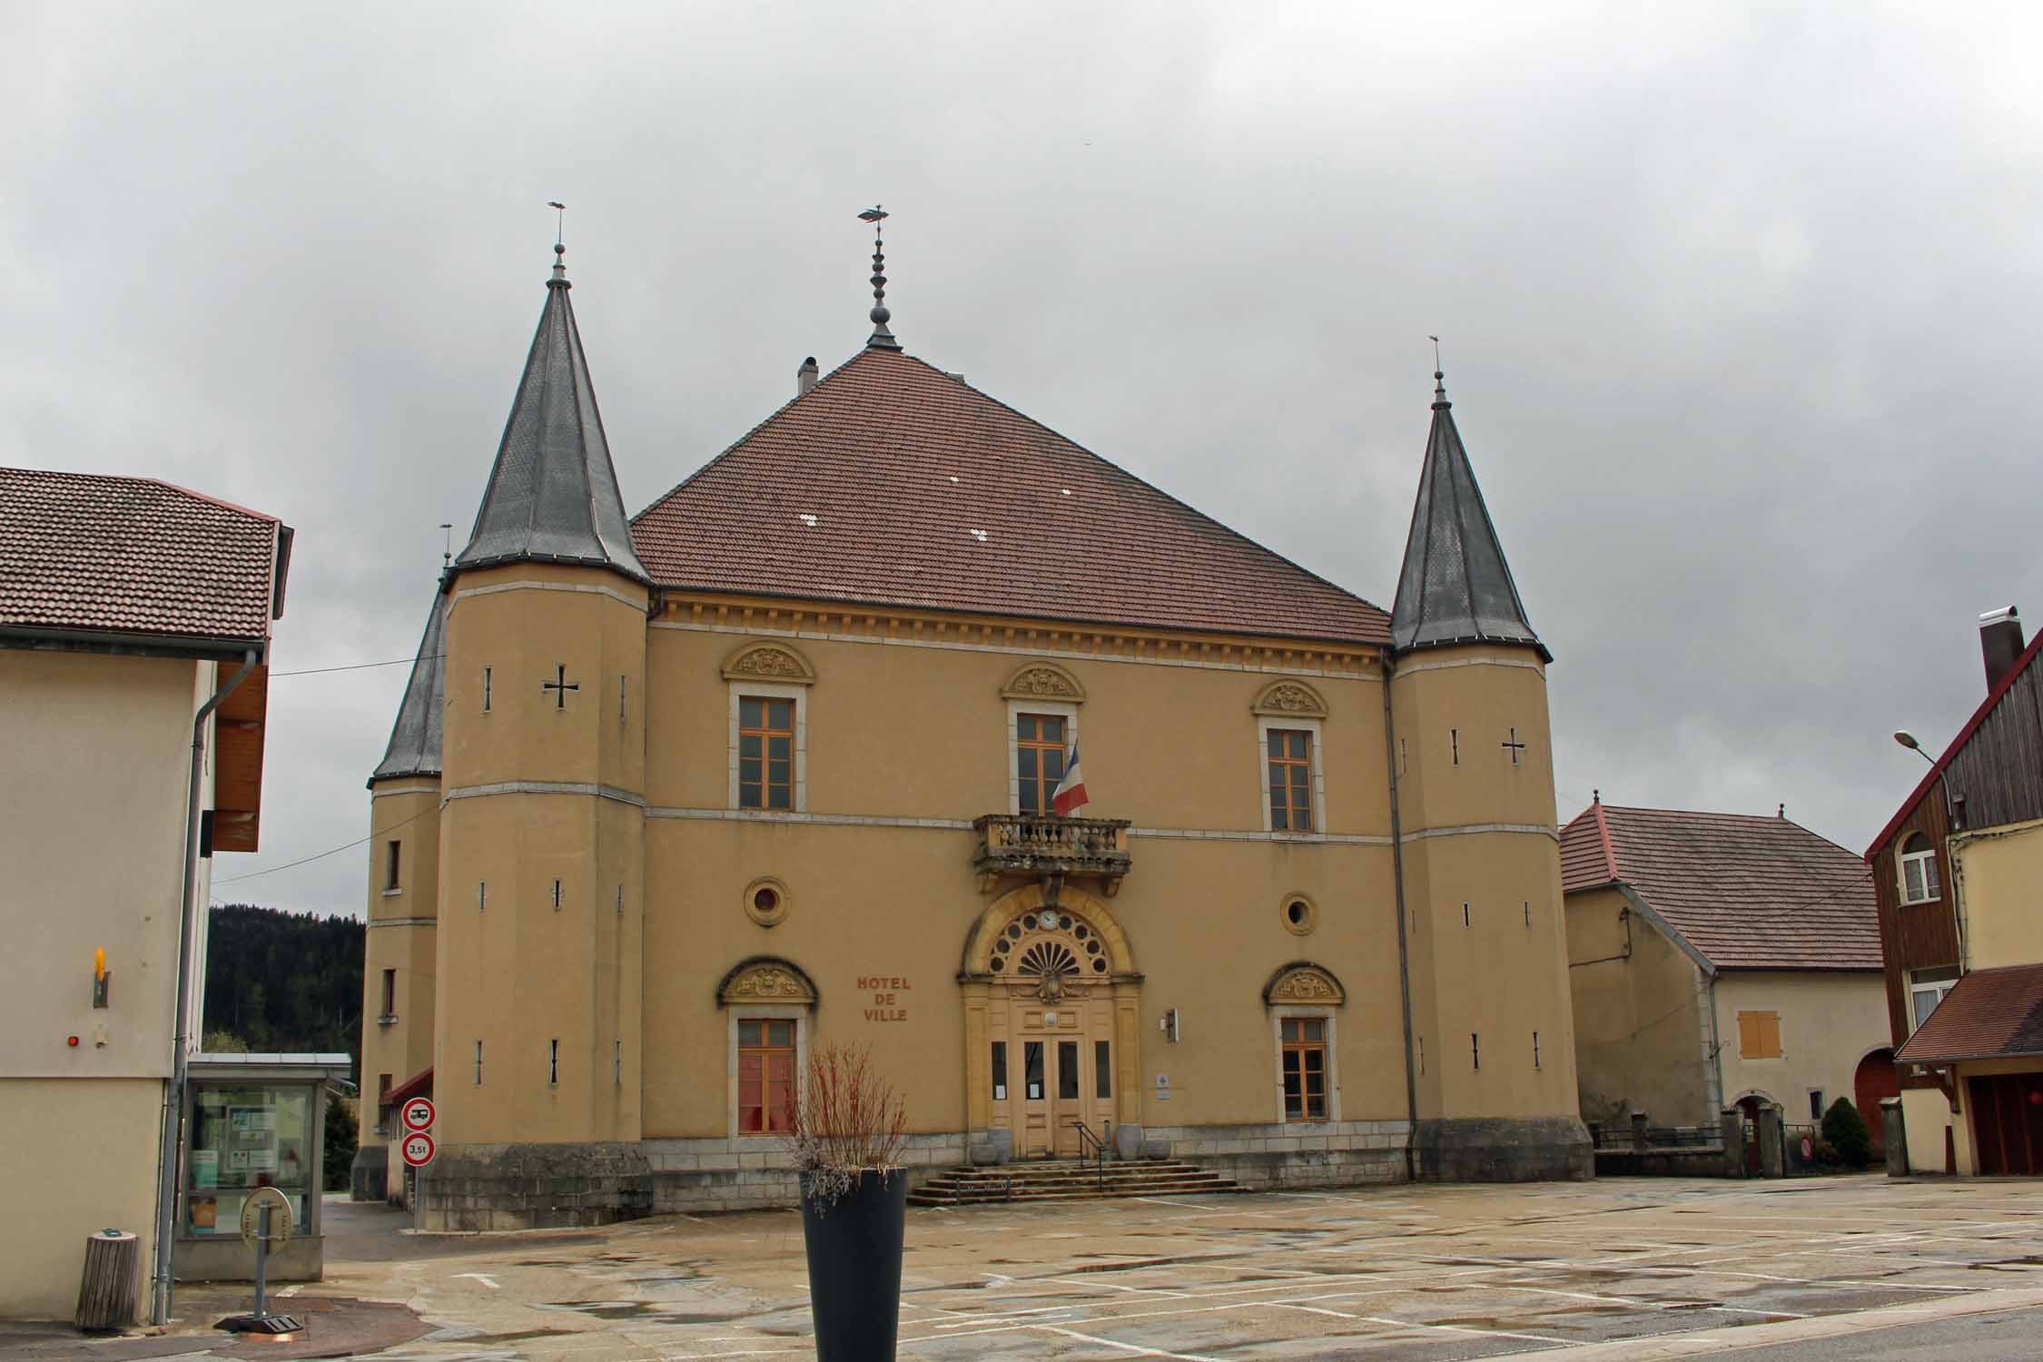
[[[627,519],[556,263],[370,778],[421,1223],[785,1203],[819,1041],[921,1170],[1083,1123],[1250,1184],[1587,1176],[1549,653],[1444,390],[1385,615],[872,321]]]

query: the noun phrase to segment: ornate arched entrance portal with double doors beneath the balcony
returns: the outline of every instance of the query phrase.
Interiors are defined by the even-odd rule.
[[[1030,884],[997,898],[964,943],[966,1111],[1009,1131],[1015,1158],[1075,1158],[1136,1121],[1142,976],[1105,901]]]

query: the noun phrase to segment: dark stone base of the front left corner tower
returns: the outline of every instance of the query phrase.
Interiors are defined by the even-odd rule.
[[[652,1215],[637,1144],[441,1146],[417,1182],[419,1229],[564,1229]]]

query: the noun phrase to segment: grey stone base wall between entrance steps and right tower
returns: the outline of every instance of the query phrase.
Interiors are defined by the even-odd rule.
[[[1410,1121],[1146,1125],[1142,1141],[1256,1190],[1406,1180]]]

